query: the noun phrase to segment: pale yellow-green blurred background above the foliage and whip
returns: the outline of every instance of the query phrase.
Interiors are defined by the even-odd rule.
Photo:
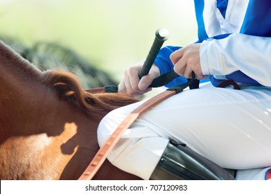
[[[0,0],[0,35],[31,46],[55,42],[73,49],[116,81],[146,58],[157,28],[164,45],[196,39],[192,0]]]

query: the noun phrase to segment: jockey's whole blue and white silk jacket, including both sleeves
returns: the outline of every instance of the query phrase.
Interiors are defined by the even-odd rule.
[[[222,80],[271,87],[271,1],[194,0],[200,65],[218,86]],[[161,48],[155,64],[161,74],[173,70],[169,55],[181,48]],[[176,78],[166,87],[180,85]]]

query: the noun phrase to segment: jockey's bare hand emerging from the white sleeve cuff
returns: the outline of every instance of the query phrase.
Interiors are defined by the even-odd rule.
[[[190,44],[171,54],[174,71],[185,78],[192,78],[192,72],[198,80],[209,76],[202,75],[200,67],[200,44]]]

